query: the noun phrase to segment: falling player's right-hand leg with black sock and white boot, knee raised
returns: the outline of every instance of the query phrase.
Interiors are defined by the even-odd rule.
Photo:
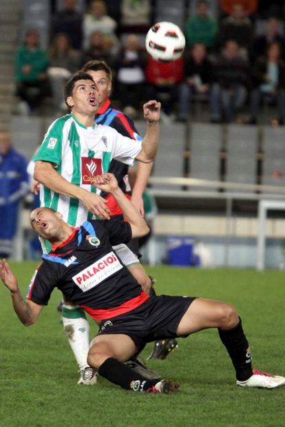
[[[180,320],[177,335],[189,335],[206,328],[218,328],[222,344],[231,357],[238,386],[275,388],[285,385],[285,378],[254,371],[249,342],[242,321],[230,304],[195,299]]]

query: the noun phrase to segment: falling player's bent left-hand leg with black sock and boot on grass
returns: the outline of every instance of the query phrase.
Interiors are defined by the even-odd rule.
[[[148,393],[169,393],[178,390],[171,381],[148,379],[123,362],[137,352],[134,341],[124,334],[99,335],[90,346],[88,364],[98,373],[125,390]]]

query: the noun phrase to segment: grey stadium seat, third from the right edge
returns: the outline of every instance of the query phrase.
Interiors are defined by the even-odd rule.
[[[220,126],[193,123],[190,132],[189,177],[220,181]],[[218,188],[196,187],[193,190],[218,191]]]

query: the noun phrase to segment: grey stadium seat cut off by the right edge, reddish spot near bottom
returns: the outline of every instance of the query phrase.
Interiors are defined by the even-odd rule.
[[[285,186],[285,129],[264,127],[262,184]]]

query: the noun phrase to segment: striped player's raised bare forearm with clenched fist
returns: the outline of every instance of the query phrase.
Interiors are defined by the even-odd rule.
[[[151,163],[156,157],[159,142],[160,102],[148,101],[143,106],[143,115],[147,120],[147,132],[142,139],[142,150],[136,160]]]

